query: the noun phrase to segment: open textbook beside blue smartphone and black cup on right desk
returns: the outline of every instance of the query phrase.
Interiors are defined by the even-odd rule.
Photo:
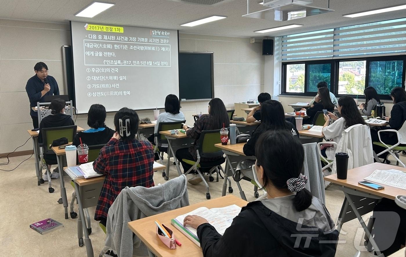
[[[367,181],[402,188],[406,190],[406,172],[397,169],[375,170],[364,178]]]

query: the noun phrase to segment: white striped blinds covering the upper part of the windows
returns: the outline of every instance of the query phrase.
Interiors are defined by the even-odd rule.
[[[282,36],[284,62],[406,52],[406,18]]]

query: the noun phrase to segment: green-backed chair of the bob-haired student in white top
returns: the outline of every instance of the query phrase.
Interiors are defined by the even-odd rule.
[[[168,148],[167,147],[160,147],[162,146],[163,143],[168,144],[168,139],[166,139],[166,137],[164,135],[161,135],[159,133],[159,131],[168,131],[168,130],[173,130],[173,129],[179,129],[182,128],[182,123],[185,123],[186,120],[181,120],[181,121],[175,121],[175,122],[160,122],[158,123],[158,133],[154,134],[154,141],[155,141],[155,147],[154,147],[154,154],[155,152],[159,152],[160,154],[158,154],[159,156],[159,161],[162,163],[162,157],[164,152],[168,153]],[[171,153],[173,154],[173,153]],[[169,156],[168,154],[168,165],[170,162],[170,158],[171,156]],[[169,171],[168,171],[169,172]],[[166,174],[165,170],[162,171],[162,177],[164,178],[164,180],[168,180],[169,179],[169,174]]]

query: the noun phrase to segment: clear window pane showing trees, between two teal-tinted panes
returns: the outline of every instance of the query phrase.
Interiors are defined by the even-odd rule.
[[[364,94],[366,60],[339,61],[338,94]]]

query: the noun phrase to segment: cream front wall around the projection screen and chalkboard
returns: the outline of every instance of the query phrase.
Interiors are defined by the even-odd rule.
[[[37,62],[45,62],[50,75],[58,82],[60,94],[63,82],[62,45],[70,45],[68,24],[0,19],[0,154],[12,152],[26,142],[32,128],[30,104],[25,91],[27,80]],[[46,37],[41,36],[46,31]],[[40,33],[41,32],[41,33]],[[264,58],[262,44],[248,38],[179,34],[179,50],[214,52],[214,96],[221,98],[227,109],[234,102],[256,99],[264,90]],[[152,97],[141,93],[136,97]],[[207,113],[208,101],[182,103],[187,122],[192,114]],[[117,103],[119,105],[119,103]],[[121,106],[119,106],[121,107]],[[153,118],[152,111],[137,111],[140,118]],[[108,113],[106,124],[113,126],[115,113]],[[76,124],[87,126],[86,114],[76,117]],[[32,142],[17,151],[31,150]]]

